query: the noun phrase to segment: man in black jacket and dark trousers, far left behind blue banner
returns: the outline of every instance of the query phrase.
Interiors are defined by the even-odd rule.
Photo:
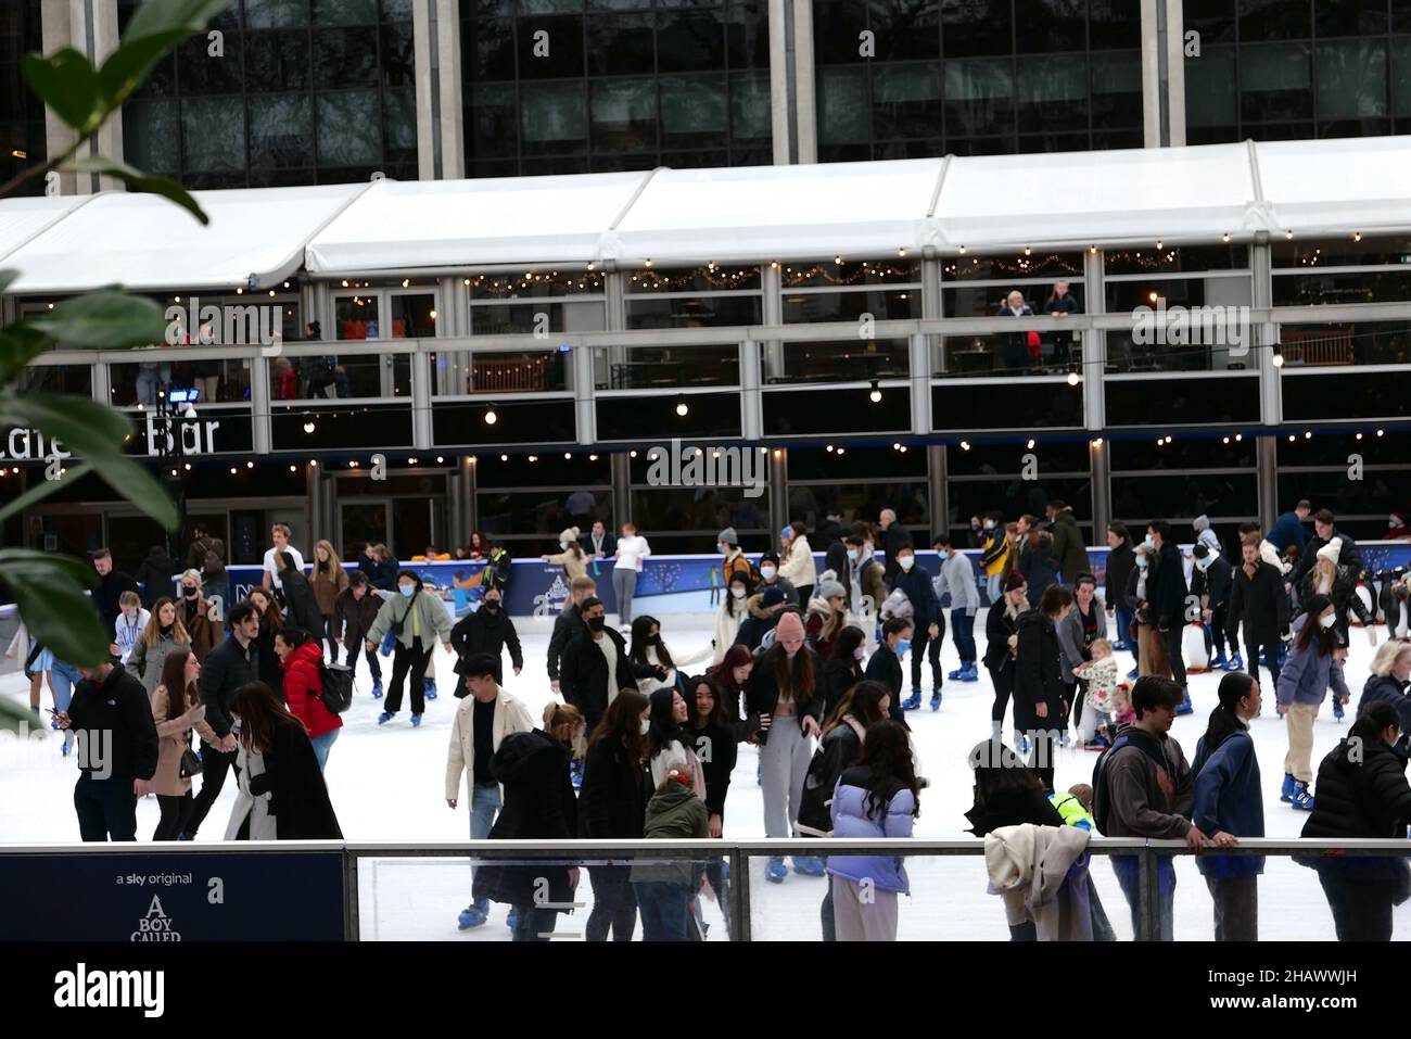
[[[137,799],[157,774],[157,723],[143,683],[116,659],[79,668],[83,680],[55,716],[79,747],[73,809],[83,840],[137,840]]]

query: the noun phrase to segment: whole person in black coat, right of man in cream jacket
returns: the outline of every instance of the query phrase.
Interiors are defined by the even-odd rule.
[[[504,807],[490,830],[490,840],[536,840],[553,846],[579,836],[579,802],[569,779],[569,762],[583,727],[577,707],[550,702],[542,728],[504,738],[491,767],[504,788]],[[476,870],[471,896],[476,903],[488,899],[511,908],[515,942],[547,942],[559,913],[574,901],[577,887],[577,867],[494,863]]]

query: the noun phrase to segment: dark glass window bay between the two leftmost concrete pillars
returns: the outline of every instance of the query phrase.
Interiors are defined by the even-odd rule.
[[[124,106],[133,165],[198,189],[416,179],[412,0],[234,0],[210,28]]]

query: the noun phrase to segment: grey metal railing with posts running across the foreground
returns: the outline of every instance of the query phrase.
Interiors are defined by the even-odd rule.
[[[969,857],[985,854],[981,840],[574,840],[556,846],[532,840],[477,841],[234,841],[202,844],[10,844],[0,846],[0,868],[11,855],[52,855],[54,887],[66,889],[59,857],[92,863],[93,855],[222,855],[222,854],[296,854],[337,853],[343,860],[343,923],[344,939],[360,940],[360,878],[361,864],[377,858],[470,858],[474,861],[505,861],[521,864],[553,864],[577,867],[604,860],[721,860],[731,867],[728,918],[731,940],[752,940],[751,920],[751,858],[768,855],[904,855],[913,863],[930,857]],[[1158,863],[1168,855],[1191,855],[1184,841],[1092,837],[1086,853],[1096,857],[1136,855],[1139,868],[1140,929],[1137,940],[1156,940],[1160,935]],[[1208,850],[1202,855],[1267,855],[1267,857],[1405,857],[1411,853],[1407,840],[1287,840],[1243,839],[1233,848]],[[580,891],[581,884],[580,884]],[[42,936],[34,936],[42,937]]]

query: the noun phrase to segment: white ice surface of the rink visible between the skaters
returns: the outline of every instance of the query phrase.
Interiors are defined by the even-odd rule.
[[[639,607],[642,604],[639,603]],[[704,613],[667,613],[663,638],[679,656],[706,645],[711,638],[710,615]],[[525,651],[525,669],[509,676],[507,686],[525,699],[538,717],[552,693],[545,668],[550,621],[515,618]],[[1110,620],[1109,620],[1110,624]],[[975,623],[975,638],[983,654],[985,617]],[[1379,639],[1384,628],[1377,628]],[[1353,693],[1348,719],[1338,723],[1325,703],[1315,724],[1314,768],[1352,723],[1362,686],[1367,678],[1371,648],[1366,631],[1353,628],[1348,662],[1348,685]],[[1123,669],[1130,656],[1119,654]],[[943,651],[944,671],[959,666],[954,644],[947,637]],[[437,651],[440,697],[429,702],[419,730],[412,728],[404,706],[389,724],[378,727],[381,702],[367,695],[370,682],[365,663],[360,663],[358,696],[344,716],[346,724],[329,757],[327,782],[343,833],[358,841],[444,841],[468,837],[464,792],[460,807],[444,800],[446,748],[452,716],[460,703],[452,696],[456,676],[453,658]],[[389,662],[384,665],[389,673]],[[694,671],[694,669],[693,669]],[[923,669],[923,673],[928,668]],[[916,735],[924,775],[930,788],[921,796],[921,816],[916,833],[933,839],[969,839],[964,812],[971,806],[971,778],[965,765],[967,751],[989,733],[992,689],[985,668],[981,680],[947,682],[944,703],[933,713],[927,706],[910,711],[907,720]],[[509,675],[507,658],[507,675]],[[1221,672],[1191,676],[1195,714],[1177,719],[1173,735],[1180,740],[1187,758],[1194,758],[1195,743],[1205,731],[1215,706]],[[1268,673],[1263,672],[1267,685]],[[926,692],[930,695],[926,676]],[[18,675],[0,679],[0,695],[18,702],[24,680]],[[48,690],[44,706],[49,706]],[[1283,758],[1287,750],[1283,721],[1273,707],[1273,689],[1264,689],[1264,713],[1253,721],[1264,788],[1264,817],[1270,837],[1297,837],[1307,816],[1278,800]],[[1012,728],[1006,723],[1006,734]],[[0,754],[0,840],[6,843],[44,843],[78,840],[72,806],[75,768],[59,754],[61,737],[18,743],[6,738]],[[1088,782],[1096,754],[1081,750],[1060,751],[1057,783],[1067,788]],[[756,751],[739,748],[725,807],[727,837],[763,837],[763,806],[755,781]],[[234,800],[234,782],[227,782],[212,809],[200,840],[219,840]],[[157,826],[154,798],[138,805],[138,833],[150,836]],[[974,839],[972,839],[974,840]],[[979,841],[976,840],[976,847]],[[824,881],[790,872],[783,884],[763,879],[763,860],[753,860],[752,927],[756,939],[817,939],[818,903]],[[921,858],[910,857],[907,871],[912,896],[900,905],[902,939],[982,939],[1007,940],[1003,911],[998,898],[985,894],[985,868],[981,857]],[[1132,936],[1126,902],[1118,889],[1109,863],[1094,860],[1094,877],[1103,905],[1119,937]],[[1177,939],[1209,939],[1212,935],[1211,901],[1194,861],[1177,863],[1175,935]],[[271,878],[272,882],[296,884],[296,877]],[[591,888],[584,881],[579,899],[590,903]],[[385,858],[364,860],[360,878],[361,935],[364,939],[435,939],[457,942],[508,940],[504,906],[494,906],[491,922],[470,932],[457,932],[456,915],[468,901],[468,868],[463,860]],[[717,905],[706,902],[711,922],[710,940],[724,939],[724,923]],[[587,912],[559,918],[557,935],[581,936]],[[1405,908],[1397,911],[1397,922]],[[1398,932],[1401,927],[1398,926]],[[1264,939],[1331,940],[1332,916],[1318,885],[1316,874],[1288,860],[1271,858],[1260,884],[1260,936]],[[1400,936],[1400,935],[1398,935]]]

